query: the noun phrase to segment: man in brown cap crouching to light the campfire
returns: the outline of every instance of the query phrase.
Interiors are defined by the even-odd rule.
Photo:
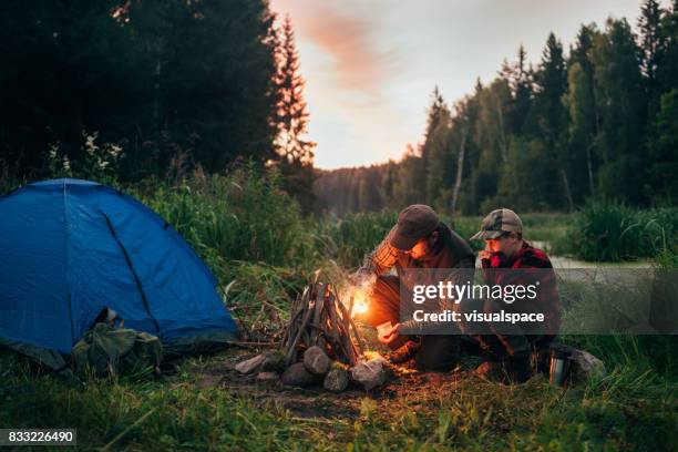
[[[386,322],[392,325],[390,331],[379,338],[393,350],[391,362],[404,362],[415,356],[420,369],[434,371],[449,370],[456,363],[458,336],[424,335],[417,338],[407,333],[422,326],[413,320],[400,322],[400,289],[403,284],[403,292],[412,290],[403,280],[408,269],[414,273],[445,269],[446,279],[469,280],[473,278],[474,261],[469,244],[442,223],[431,207],[414,204],[400,213],[398,224],[351,276],[356,286],[376,277],[370,308],[361,318],[373,327]],[[393,267],[397,276],[386,275]],[[438,310],[446,307],[441,304]]]

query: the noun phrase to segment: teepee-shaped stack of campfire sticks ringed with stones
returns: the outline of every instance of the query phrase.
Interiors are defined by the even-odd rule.
[[[350,381],[366,390],[383,384],[388,366],[381,357],[368,359],[353,321],[353,315],[368,310],[367,290],[356,288],[347,296],[348,306],[341,301],[336,285],[320,281],[316,273],[292,304],[278,350],[243,361],[236,370],[259,371],[259,380],[274,380],[281,373],[282,383],[290,386],[321,382],[330,391],[342,391]]]

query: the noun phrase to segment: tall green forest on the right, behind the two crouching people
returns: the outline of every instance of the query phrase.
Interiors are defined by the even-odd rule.
[[[671,205],[678,195],[678,2],[521,45],[464,99],[431,94],[421,142],[400,161],[321,172],[319,205],[342,215],[411,203],[475,215],[572,212],[589,198]],[[462,70],[462,69],[460,69]]]

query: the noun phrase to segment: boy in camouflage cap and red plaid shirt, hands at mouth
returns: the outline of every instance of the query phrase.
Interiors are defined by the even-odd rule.
[[[531,355],[540,357],[543,366],[559,326],[561,301],[553,266],[544,251],[523,239],[523,222],[507,208],[492,210],[471,240],[485,240],[485,249],[480,251],[479,257],[486,285],[537,285],[533,299],[511,304],[484,300],[484,311],[541,312],[544,315],[543,325],[518,323],[513,328],[491,323],[493,333],[473,336],[481,348],[493,357],[479,367],[479,374],[525,381],[532,374]]]

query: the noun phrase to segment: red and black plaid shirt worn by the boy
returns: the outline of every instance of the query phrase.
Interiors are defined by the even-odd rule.
[[[481,259],[485,282],[500,286],[527,286],[538,281],[536,297],[523,301],[534,304],[533,306],[544,314],[546,328],[555,333],[561,325],[562,305],[555,271],[548,256],[527,242],[523,242],[523,246],[514,256],[507,259],[502,257],[503,255],[494,254],[490,259]],[[507,269],[520,271],[507,271]],[[525,308],[527,308],[525,305],[521,307],[521,309]]]

